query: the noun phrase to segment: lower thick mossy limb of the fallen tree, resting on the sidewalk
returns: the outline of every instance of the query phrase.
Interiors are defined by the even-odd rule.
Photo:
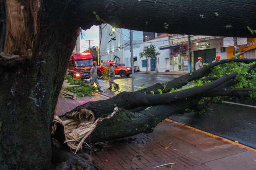
[[[185,109],[187,104],[184,102],[182,104],[158,105],[140,112],[120,109],[110,119],[100,121],[90,137],[86,139],[86,143],[111,141],[138,133],[151,132],[159,122],[177,111]],[[57,123],[56,134],[58,140],[62,143],[65,140],[63,128],[62,125]]]

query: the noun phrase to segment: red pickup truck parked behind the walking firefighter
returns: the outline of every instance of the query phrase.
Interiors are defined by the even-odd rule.
[[[97,73],[98,73],[98,77],[100,78],[102,76],[102,72],[103,70],[107,70],[109,68],[109,62],[110,61],[106,61],[104,63],[101,64],[101,66],[97,66]],[[113,66],[115,67],[115,74],[116,75],[120,75],[121,77],[125,77],[125,76],[130,76],[130,74],[132,74],[132,68],[129,66],[122,66],[119,63],[115,63],[113,62]]]

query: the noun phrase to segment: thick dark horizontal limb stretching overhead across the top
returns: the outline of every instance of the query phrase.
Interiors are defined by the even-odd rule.
[[[238,7],[243,10],[237,10]],[[127,29],[253,37],[247,26],[256,29],[255,8],[252,0],[233,0],[232,3],[222,0],[77,0],[76,19],[81,26],[88,18],[94,18],[97,23],[95,11],[107,23]]]

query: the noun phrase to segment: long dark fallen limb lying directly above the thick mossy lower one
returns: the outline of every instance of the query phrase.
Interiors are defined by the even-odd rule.
[[[88,102],[84,105],[78,106],[68,114],[75,112],[83,113],[84,109],[90,109],[95,116],[95,119],[102,117],[103,115],[109,115],[112,113],[115,107],[123,109],[134,109],[141,106],[156,106],[161,104],[171,104],[178,100],[186,100],[193,96],[198,96],[204,92],[212,90],[220,84],[235,78],[237,72],[233,72],[230,75],[224,75],[214,82],[205,84],[204,86],[196,86],[190,89],[182,90],[179,92],[165,93],[165,94],[139,94],[132,92],[122,92],[113,98],[97,102]]]

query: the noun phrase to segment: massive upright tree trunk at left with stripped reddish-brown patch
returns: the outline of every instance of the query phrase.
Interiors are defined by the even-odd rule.
[[[67,20],[68,2],[6,1],[4,52],[13,54],[0,57],[0,164],[6,169],[50,168],[54,108],[78,36]]]

